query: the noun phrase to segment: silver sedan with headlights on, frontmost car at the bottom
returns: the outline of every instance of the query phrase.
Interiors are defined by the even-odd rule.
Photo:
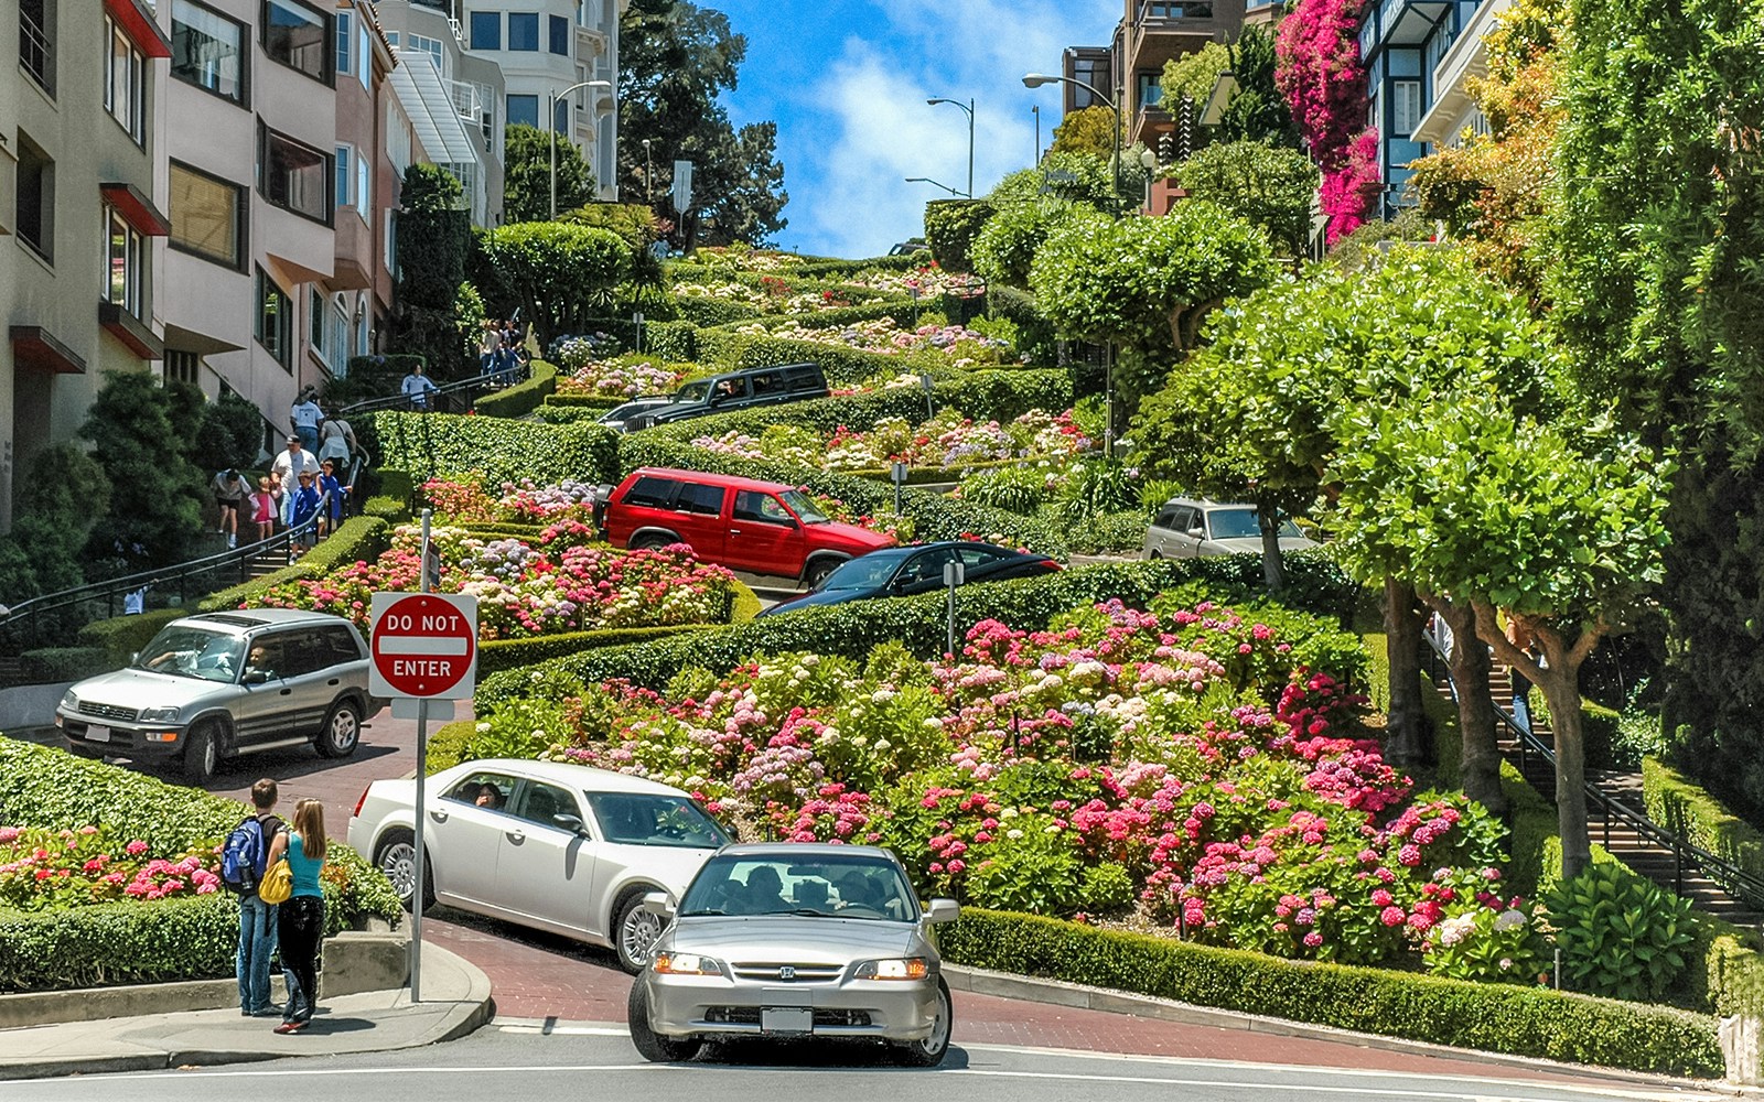
[[[691,1060],[729,1037],[850,1037],[931,1067],[954,1012],[931,926],[900,860],[875,846],[736,845],[699,869],[630,996],[646,1060]]]

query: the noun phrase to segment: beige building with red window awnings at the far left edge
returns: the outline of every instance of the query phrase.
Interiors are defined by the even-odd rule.
[[[171,42],[143,0],[18,0],[0,19],[0,529],[104,372],[164,354],[153,120]]]

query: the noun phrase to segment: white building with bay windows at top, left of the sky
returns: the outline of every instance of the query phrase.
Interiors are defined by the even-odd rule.
[[[501,67],[505,120],[582,150],[602,201],[619,197],[619,16],[630,0],[460,0],[466,48]]]

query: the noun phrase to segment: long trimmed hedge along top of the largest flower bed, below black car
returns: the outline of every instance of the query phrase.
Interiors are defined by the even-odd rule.
[[[1321,555],[1293,555],[1289,564],[1293,578],[1312,571],[1339,575],[1335,564]],[[1000,619],[1013,628],[1035,629],[1078,605],[1111,598],[1143,603],[1184,582],[1203,582],[1219,592],[1252,592],[1259,578],[1259,555],[1230,555],[1090,566],[1039,578],[988,582],[963,587],[956,594],[956,629],[965,633],[983,619]],[[1328,587],[1311,589],[1327,592]],[[1302,589],[1295,587],[1295,592]],[[1332,614],[1330,608],[1293,607]],[[653,644],[603,647],[538,666],[494,674],[478,682],[475,707],[485,716],[510,700],[526,696],[533,691],[534,681],[550,675],[573,677],[586,684],[623,677],[639,686],[662,689],[683,668],[729,670],[753,654],[778,651],[863,658],[877,644],[900,642],[914,654],[931,658],[944,652],[946,631],[947,598],[942,592],[824,605],[750,624]]]

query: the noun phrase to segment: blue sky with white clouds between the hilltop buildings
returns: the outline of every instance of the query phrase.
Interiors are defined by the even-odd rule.
[[[790,224],[778,245],[818,256],[878,256],[917,236],[930,176],[967,187],[967,115],[935,95],[975,101],[974,190],[1028,168],[1053,141],[1067,46],[1106,44],[1120,0],[699,0],[748,37],[741,85],[723,93],[737,125],[778,123]]]

